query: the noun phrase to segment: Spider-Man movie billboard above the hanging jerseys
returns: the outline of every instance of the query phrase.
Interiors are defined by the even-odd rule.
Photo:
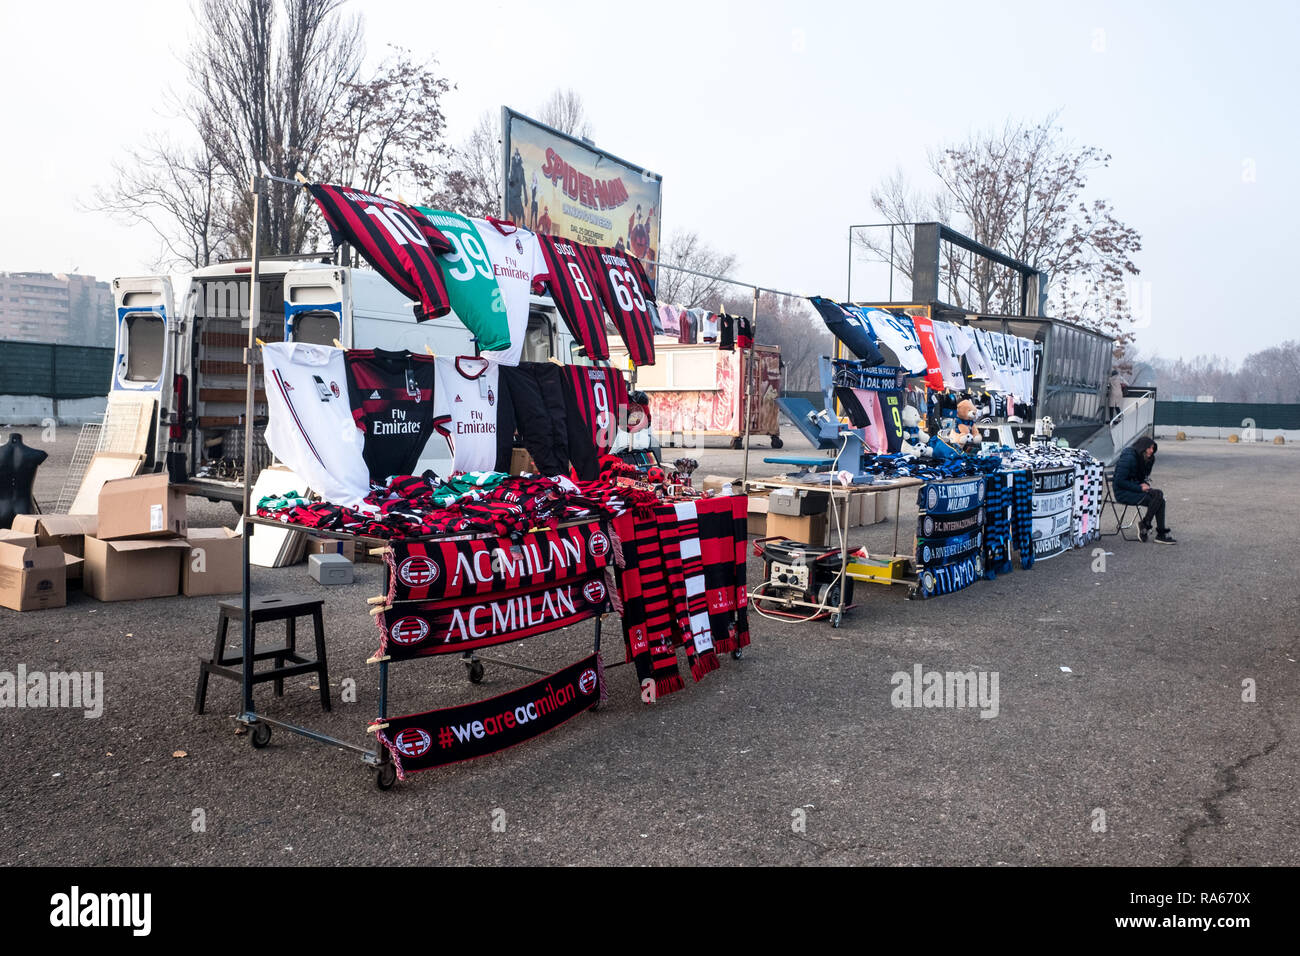
[[[536,233],[627,250],[650,277],[663,178],[502,108],[502,215]]]

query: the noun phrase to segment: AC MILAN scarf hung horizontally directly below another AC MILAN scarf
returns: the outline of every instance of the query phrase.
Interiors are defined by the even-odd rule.
[[[376,617],[377,657],[394,661],[458,654],[558,631],[611,610],[604,572],[497,594],[404,601]]]

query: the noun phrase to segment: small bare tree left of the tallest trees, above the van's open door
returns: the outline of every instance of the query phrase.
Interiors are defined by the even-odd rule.
[[[151,138],[114,163],[113,173],[90,208],[152,229],[160,242],[155,268],[200,268],[228,251],[226,182],[202,142],[182,147]]]

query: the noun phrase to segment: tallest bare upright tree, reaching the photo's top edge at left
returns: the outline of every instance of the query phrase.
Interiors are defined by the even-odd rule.
[[[261,164],[292,178],[320,155],[332,111],[356,79],[363,55],[360,21],[341,16],[342,5],[199,0],[200,39],[188,57],[199,135],[237,196]],[[303,191],[272,183],[265,200],[265,248],[302,252],[318,229]],[[250,213],[246,199],[231,202],[231,230],[243,246]]]

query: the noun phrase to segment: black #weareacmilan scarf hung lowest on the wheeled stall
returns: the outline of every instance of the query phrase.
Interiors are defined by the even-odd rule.
[[[408,773],[497,753],[555,730],[595,705],[603,683],[598,656],[592,654],[498,697],[389,717],[370,730],[404,780]]]

